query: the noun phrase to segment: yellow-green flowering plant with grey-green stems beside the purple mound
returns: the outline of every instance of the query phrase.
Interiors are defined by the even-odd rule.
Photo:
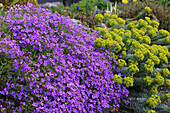
[[[143,12],[150,11],[149,7],[145,7]],[[128,78],[122,77],[122,81],[118,75],[114,78],[126,87],[133,86],[128,88],[130,92],[133,92],[130,93],[133,101],[129,104],[130,107],[140,108],[134,109],[134,112],[140,110],[143,113],[144,109],[159,106],[156,108],[158,112],[159,108],[166,112],[167,105],[163,107],[156,101],[153,103],[147,101],[147,98],[152,94],[165,95],[157,89],[169,86],[169,32],[163,29],[158,30],[159,22],[150,20],[149,17],[128,24],[115,14],[106,17],[107,20],[101,15],[96,16],[97,20],[106,23],[109,28],[96,28],[102,38],[95,39],[94,44],[98,48],[110,50],[110,56],[118,61],[116,66],[121,69],[120,73],[130,75]],[[166,46],[163,46],[164,44]]]

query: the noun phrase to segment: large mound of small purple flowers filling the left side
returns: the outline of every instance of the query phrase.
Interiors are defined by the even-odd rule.
[[[0,57],[11,61],[0,76],[0,111],[96,113],[128,103],[129,91],[111,79],[109,50],[93,44],[96,31],[90,35],[69,17],[32,4],[13,8],[0,16],[9,23]]]

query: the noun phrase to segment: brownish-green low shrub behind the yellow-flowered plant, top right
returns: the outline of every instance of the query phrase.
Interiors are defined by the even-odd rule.
[[[164,0],[162,0],[162,1],[164,1]],[[154,3],[151,1],[146,1],[146,2],[138,1],[135,4],[132,4],[130,6],[119,5],[118,9],[121,9],[121,13],[119,13],[119,16],[122,17],[123,19],[134,18],[146,6],[148,6],[152,9],[152,13],[149,13],[145,16],[150,17],[151,20],[159,21],[160,25],[159,25],[158,29],[168,30],[170,32],[170,26],[169,26],[169,24],[170,24],[170,21],[169,21],[170,9],[168,7],[164,7],[160,3]],[[145,16],[140,16],[139,18],[144,19]]]

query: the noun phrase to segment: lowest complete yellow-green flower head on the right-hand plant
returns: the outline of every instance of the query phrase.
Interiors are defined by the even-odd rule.
[[[153,95],[151,95],[151,97],[149,98],[149,100],[146,101],[146,103],[147,103],[151,108],[155,108],[158,103],[161,103],[160,96],[158,96],[158,95],[156,95],[156,94],[153,94]]]

